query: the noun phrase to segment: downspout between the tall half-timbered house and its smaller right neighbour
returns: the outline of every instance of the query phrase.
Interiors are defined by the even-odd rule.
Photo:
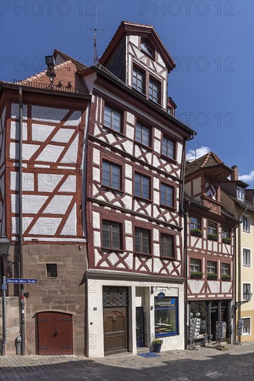
[[[184,348],[188,349],[188,281],[187,281],[187,269],[188,269],[188,209],[190,207],[190,202],[188,204],[188,209],[185,212],[183,210],[183,193],[184,193],[184,179],[185,179],[185,163],[186,163],[186,148],[187,142],[194,139],[197,132],[189,138],[186,139],[183,145],[183,155],[182,155],[182,173],[181,173],[181,200],[180,200],[180,212],[183,214],[183,278],[184,278]]]

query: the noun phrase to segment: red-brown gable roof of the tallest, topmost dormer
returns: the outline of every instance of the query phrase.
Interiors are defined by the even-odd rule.
[[[109,45],[107,46],[105,52],[102,54],[102,57],[100,57],[100,64],[105,65],[107,59],[111,55],[111,52],[114,51],[114,48],[116,47],[118,42],[120,42],[120,39],[124,35],[141,35],[143,37],[149,38],[152,44],[154,44],[154,46],[156,46],[157,50],[160,52],[161,56],[163,57],[163,60],[165,60],[167,69],[170,71],[174,69],[174,67],[176,67],[173,58],[171,57],[170,53],[168,53],[167,49],[165,48],[165,45],[154,30],[154,27],[152,25],[136,24],[131,21],[121,22],[120,26],[118,27],[118,30],[116,30],[116,33],[109,42]]]

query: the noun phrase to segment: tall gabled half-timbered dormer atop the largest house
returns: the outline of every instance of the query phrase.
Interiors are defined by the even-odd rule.
[[[167,111],[167,75],[175,64],[153,26],[122,21],[100,64]]]

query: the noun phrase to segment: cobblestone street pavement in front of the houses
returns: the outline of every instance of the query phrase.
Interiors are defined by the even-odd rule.
[[[254,381],[253,343],[213,346],[198,351],[168,351],[144,358],[130,353],[102,359],[82,356],[5,356],[0,358],[0,380],[170,380]],[[148,349],[147,349],[148,351]]]

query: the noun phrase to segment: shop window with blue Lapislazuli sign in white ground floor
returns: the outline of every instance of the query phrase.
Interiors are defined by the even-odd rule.
[[[154,298],[155,337],[178,334],[177,298]]]

